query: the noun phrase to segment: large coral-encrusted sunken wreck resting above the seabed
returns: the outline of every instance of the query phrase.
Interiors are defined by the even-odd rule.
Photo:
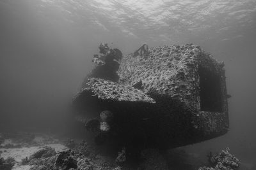
[[[99,48],[103,55],[94,61],[103,62],[73,101],[98,143],[165,149],[228,131],[224,64],[199,46],[159,46],[124,57],[108,45]]]

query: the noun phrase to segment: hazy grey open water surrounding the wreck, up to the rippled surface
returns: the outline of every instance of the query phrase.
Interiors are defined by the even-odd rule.
[[[255,0],[0,0],[0,129],[68,127],[100,43],[124,55],[193,43],[223,61],[230,130],[184,149],[204,157],[229,146],[256,169]]]

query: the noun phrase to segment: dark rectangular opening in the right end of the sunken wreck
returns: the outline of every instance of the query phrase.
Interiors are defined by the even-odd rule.
[[[221,77],[204,67],[198,69],[200,77],[200,106],[201,111],[222,111]]]

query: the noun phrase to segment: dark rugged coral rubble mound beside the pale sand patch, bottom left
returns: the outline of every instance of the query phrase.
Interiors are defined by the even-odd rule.
[[[74,143],[72,149],[61,152],[52,152],[52,148],[43,148],[31,155],[29,159],[30,170],[38,169],[114,169],[115,163],[112,163],[105,157],[97,155],[94,150],[88,148],[85,141]],[[45,153],[52,153],[45,155]]]

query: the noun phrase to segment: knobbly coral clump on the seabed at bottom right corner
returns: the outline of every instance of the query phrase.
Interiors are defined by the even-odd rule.
[[[220,153],[209,155],[209,164],[211,167],[200,167],[198,170],[235,170],[240,166],[240,161],[234,155],[230,154],[230,149],[225,148]]]

